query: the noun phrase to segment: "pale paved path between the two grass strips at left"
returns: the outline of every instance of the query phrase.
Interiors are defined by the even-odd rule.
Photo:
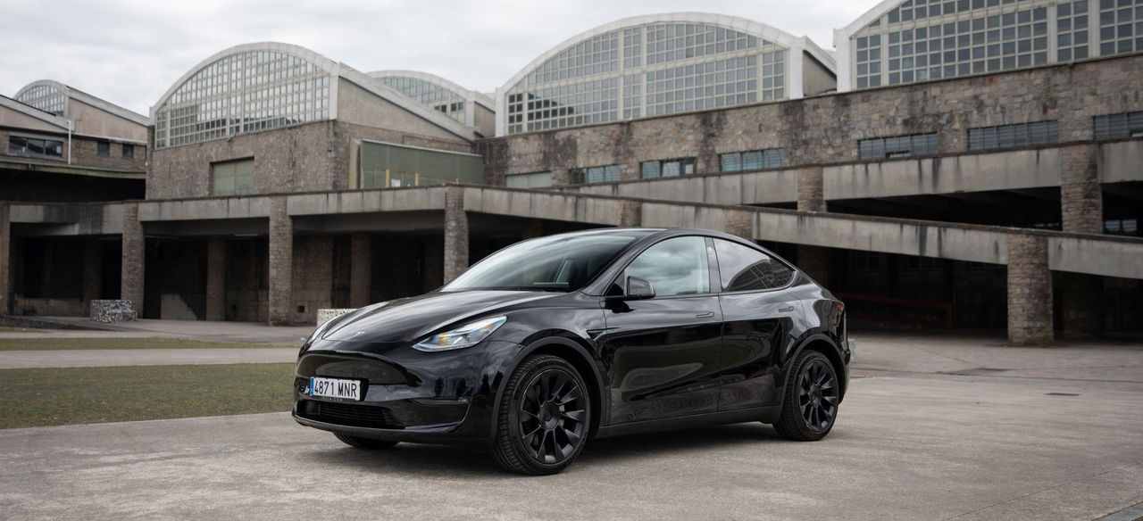
[[[295,347],[0,351],[0,369],[217,363],[289,363],[295,361],[297,361],[297,348]]]

